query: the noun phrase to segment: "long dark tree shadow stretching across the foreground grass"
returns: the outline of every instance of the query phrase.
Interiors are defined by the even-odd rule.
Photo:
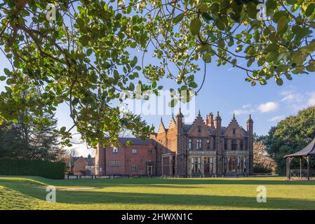
[[[46,199],[46,190],[27,188],[27,186],[6,186],[20,193],[37,198]],[[98,192],[97,190],[78,190],[57,192],[57,202],[67,204],[125,204],[134,205],[156,204],[166,207],[180,206],[182,209],[210,209],[231,207],[234,209],[315,209],[315,201],[297,200],[290,198],[267,197],[267,203],[258,203],[256,195],[253,197],[227,196],[227,195],[175,195],[175,194],[149,194],[149,193],[112,193]],[[100,208],[101,209],[101,208]],[[146,207],[146,209],[155,209]]]

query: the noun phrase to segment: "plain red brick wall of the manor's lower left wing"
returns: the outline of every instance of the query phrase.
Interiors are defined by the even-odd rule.
[[[106,149],[106,174],[147,174],[147,162],[154,163],[154,174],[156,174],[156,149],[154,146],[133,145],[118,148],[118,153],[113,153],[111,147]],[[138,153],[133,154],[133,148],[137,149]],[[152,153],[149,153],[149,149],[152,149]],[[138,167],[137,171],[132,170],[134,165]]]

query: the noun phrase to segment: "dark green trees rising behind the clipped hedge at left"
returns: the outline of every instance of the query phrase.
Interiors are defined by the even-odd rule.
[[[32,113],[20,113],[17,123],[0,127],[0,157],[60,161],[65,150],[60,148],[56,124],[57,120],[50,115],[35,118]]]

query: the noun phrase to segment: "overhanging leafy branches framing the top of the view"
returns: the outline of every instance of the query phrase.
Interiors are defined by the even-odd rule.
[[[157,93],[164,77],[175,80],[177,90],[198,93],[199,62],[205,64],[203,80],[206,63],[216,60],[243,69],[251,85],[271,78],[282,85],[283,77],[315,71],[312,1],[267,0],[270,20],[257,19],[256,0],[62,0],[55,20],[46,18],[48,3],[0,3],[0,46],[12,66],[0,77],[7,84],[0,116],[16,120],[16,111],[25,108],[43,115],[67,103],[74,126],[91,145],[103,137],[116,144],[123,129],[147,137],[152,127],[140,116],[122,115],[115,100],[125,90],[135,97],[137,83]],[[131,56],[133,49],[143,52],[141,61]],[[149,57],[155,63],[146,63]],[[20,99],[32,88],[40,92]],[[60,130],[65,141],[71,130]]]

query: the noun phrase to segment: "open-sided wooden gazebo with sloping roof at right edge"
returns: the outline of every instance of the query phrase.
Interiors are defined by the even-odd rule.
[[[291,177],[300,177],[302,179],[303,174],[306,174],[307,180],[310,179],[311,169],[309,168],[309,162],[311,158],[315,157],[315,138],[301,151],[286,155],[286,176],[288,179]],[[290,169],[290,163],[294,158],[300,158],[300,169]],[[307,161],[307,169],[302,169],[302,161]]]

